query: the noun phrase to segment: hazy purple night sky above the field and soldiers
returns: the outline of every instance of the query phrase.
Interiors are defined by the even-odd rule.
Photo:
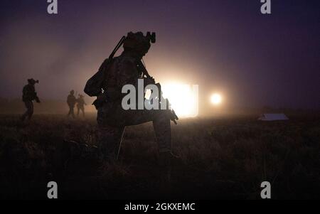
[[[26,79],[39,97],[64,100],[128,31],[155,31],[144,59],[156,80],[218,90],[230,105],[320,107],[320,1],[2,0],[0,97],[21,97]],[[118,52],[119,54],[120,52]]]

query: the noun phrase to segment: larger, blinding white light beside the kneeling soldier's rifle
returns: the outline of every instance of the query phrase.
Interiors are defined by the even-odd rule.
[[[196,117],[198,115],[198,85],[173,82],[161,84],[161,90],[178,117]]]

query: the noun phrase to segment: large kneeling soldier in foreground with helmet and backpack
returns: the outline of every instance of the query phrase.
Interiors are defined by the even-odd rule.
[[[100,66],[98,72],[87,81],[85,92],[97,96],[93,103],[97,108],[98,143],[102,156],[112,161],[117,159],[124,127],[153,122],[156,141],[159,147],[159,163],[169,166],[171,154],[171,124],[176,114],[170,109],[128,109],[122,108],[122,87],[134,85],[137,89],[139,78],[144,85],[155,84],[142,63],[142,57],[155,42],[155,33],[128,33],[114,48],[110,57]],[[114,53],[122,46],[124,51],[118,57]]]

